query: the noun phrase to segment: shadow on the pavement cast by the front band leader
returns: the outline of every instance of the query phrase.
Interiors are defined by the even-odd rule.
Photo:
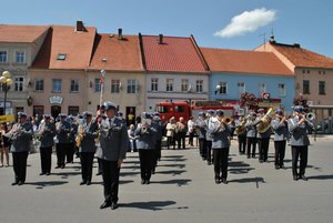
[[[162,210],[179,210],[179,209],[189,209],[188,206],[183,207],[168,207],[175,204],[174,201],[149,201],[149,202],[132,202],[127,204],[119,204],[122,207],[134,207],[134,209],[144,209],[152,211],[162,211]]]

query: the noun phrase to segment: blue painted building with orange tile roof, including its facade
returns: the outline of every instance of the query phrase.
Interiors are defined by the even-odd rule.
[[[282,108],[291,113],[294,73],[271,52],[201,48],[210,68],[210,100],[239,109],[242,93],[253,93],[261,108]],[[270,95],[269,100],[262,97]]]

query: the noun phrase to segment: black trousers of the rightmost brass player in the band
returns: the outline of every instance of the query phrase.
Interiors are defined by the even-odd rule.
[[[297,162],[300,158],[300,172],[297,174]],[[307,165],[307,145],[295,146],[292,145],[292,170],[294,176],[302,176],[305,174]]]

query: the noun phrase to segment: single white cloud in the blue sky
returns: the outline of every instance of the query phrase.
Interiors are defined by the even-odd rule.
[[[242,36],[246,32],[254,32],[260,27],[264,27],[276,19],[275,10],[266,10],[265,8],[254,9],[253,11],[244,11],[231,19],[224,29],[214,33],[216,37],[232,38]]]

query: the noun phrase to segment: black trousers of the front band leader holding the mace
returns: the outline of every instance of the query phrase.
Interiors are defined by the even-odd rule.
[[[107,203],[118,202],[119,172],[118,161],[102,160],[102,176],[104,187],[104,200]]]

